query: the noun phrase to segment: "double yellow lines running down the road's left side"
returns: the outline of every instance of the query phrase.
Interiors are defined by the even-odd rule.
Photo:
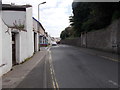
[[[52,64],[52,56],[51,56],[51,51],[50,50],[49,50],[49,64],[50,64],[50,72],[51,72],[53,87],[54,87],[54,89],[57,88],[59,90],[59,85],[57,83],[54,68],[53,68],[53,64]]]

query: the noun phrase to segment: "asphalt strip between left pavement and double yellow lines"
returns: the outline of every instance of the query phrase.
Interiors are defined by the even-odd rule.
[[[45,55],[16,88],[53,88],[49,53]]]

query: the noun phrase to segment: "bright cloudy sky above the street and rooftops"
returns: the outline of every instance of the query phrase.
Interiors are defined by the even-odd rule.
[[[2,0],[2,3],[30,4],[33,6],[33,17],[38,19],[38,4],[44,1],[46,3],[39,7],[40,22],[51,37],[60,37],[61,31],[70,25],[73,0]]]

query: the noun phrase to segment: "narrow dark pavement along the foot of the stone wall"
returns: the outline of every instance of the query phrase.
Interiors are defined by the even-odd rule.
[[[109,52],[105,52],[105,51],[100,51],[100,50],[96,50],[96,49],[89,49],[89,48],[82,48],[82,47],[76,47],[79,48],[80,51],[84,52],[84,53],[88,53],[91,55],[96,55],[105,59],[109,59],[115,62],[119,62],[120,61],[120,55],[115,54],[115,53],[109,53]]]

